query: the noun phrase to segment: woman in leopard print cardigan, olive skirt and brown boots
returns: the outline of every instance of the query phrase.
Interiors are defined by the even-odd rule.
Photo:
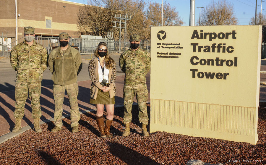
[[[94,51],[95,59],[89,63],[89,75],[92,81],[90,86],[90,103],[95,104],[96,122],[100,137],[112,138],[110,127],[113,121],[114,96],[116,94],[116,63],[109,56],[107,45],[100,42]],[[106,84],[103,80],[107,80]],[[103,117],[103,106],[106,107],[106,119]],[[105,123],[105,127],[104,127]]]

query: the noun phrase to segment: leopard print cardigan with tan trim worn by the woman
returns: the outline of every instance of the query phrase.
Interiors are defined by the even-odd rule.
[[[91,98],[94,97],[96,89],[102,87],[100,85],[99,80],[95,76],[96,62],[98,62],[97,58],[91,59],[90,62],[89,62],[89,67],[88,67],[90,80],[92,81],[92,83],[90,85],[90,97]],[[115,62],[113,62],[111,70],[112,70],[112,74],[111,74],[111,78],[109,80],[109,87],[111,88],[111,90],[113,90],[113,95],[115,95],[116,94],[116,84],[115,84],[115,80],[116,80],[116,63]],[[110,71],[109,71],[109,73],[110,73]],[[112,93],[111,90],[110,90],[109,94]],[[96,97],[94,99],[96,99]]]

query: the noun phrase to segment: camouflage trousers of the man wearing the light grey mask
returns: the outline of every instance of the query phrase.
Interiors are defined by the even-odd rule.
[[[31,100],[32,118],[37,119],[42,116],[40,109],[41,81],[33,79],[17,79],[15,85],[15,112],[14,117],[22,119],[24,107],[28,98]]]

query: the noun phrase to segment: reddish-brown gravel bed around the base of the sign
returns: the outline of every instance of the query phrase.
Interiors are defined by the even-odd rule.
[[[148,112],[150,105],[147,106]],[[95,111],[81,115],[80,132],[71,133],[70,119],[61,131],[52,133],[53,122],[42,124],[43,132],[27,130],[0,144],[0,164],[186,164],[200,159],[211,164],[266,164],[266,108],[259,108],[257,145],[212,138],[196,138],[167,132],[141,136],[137,106],[129,137],[121,137],[123,107],[115,108],[113,138],[99,138]],[[106,115],[106,113],[105,113]],[[232,160],[260,162],[232,163]]]

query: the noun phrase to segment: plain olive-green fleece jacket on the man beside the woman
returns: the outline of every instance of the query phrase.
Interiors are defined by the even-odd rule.
[[[48,66],[55,85],[76,83],[78,71],[82,67],[80,52],[68,45],[64,53],[59,46],[51,51]]]

